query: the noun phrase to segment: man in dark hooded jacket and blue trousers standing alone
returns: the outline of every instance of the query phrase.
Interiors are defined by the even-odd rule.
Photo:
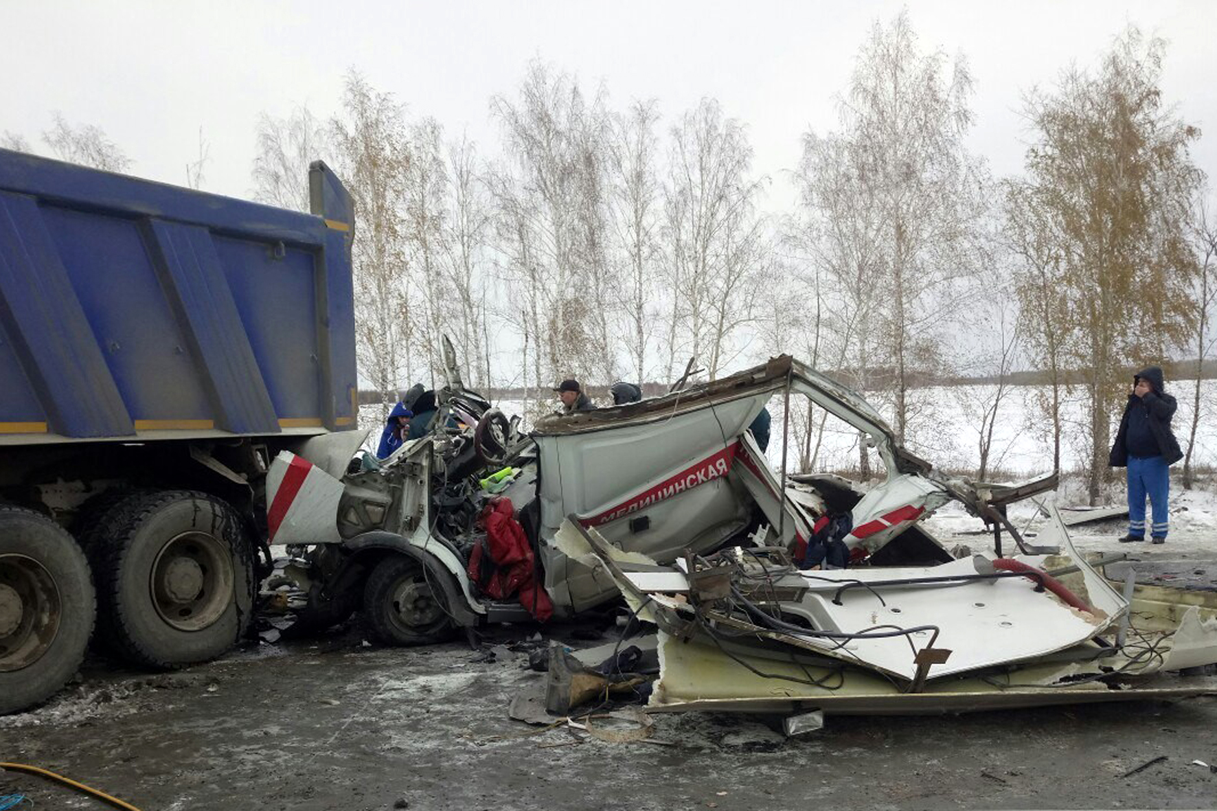
[[[1166,543],[1171,465],[1183,458],[1171,431],[1177,407],[1174,397],[1166,393],[1161,369],[1149,367],[1137,373],[1110,459],[1112,468],[1128,469],[1128,535],[1120,538],[1122,543],[1145,539],[1145,496],[1154,508],[1150,536],[1154,543]]]

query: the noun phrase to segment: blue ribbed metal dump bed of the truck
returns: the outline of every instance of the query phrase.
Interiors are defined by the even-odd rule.
[[[313,214],[0,150],[0,447],[357,416],[350,197]]]

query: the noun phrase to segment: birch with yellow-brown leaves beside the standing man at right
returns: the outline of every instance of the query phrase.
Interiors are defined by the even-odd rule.
[[[1129,28],[1097,72],[1070,68],[1051,95],[1032,94],[1027,194],[1043,239],[1059,252],[1051,284],[1077,323],[1066,357],[1082,374],[1088,496],[1109,479],[1111,425],[1128,368],[1160,363],[1194,325],[1196,259],[1187,219],[1200,172],[1196,128],[1162,101],[1165,45]]]

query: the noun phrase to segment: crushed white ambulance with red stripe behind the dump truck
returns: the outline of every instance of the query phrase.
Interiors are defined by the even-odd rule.
[[[1054,486],[978,488],[940,476],[859,396],[785,356],[662,397],[546,418],[527,436],[462,386],[450,352],[448,360],[432,432],[378,466],[349,464],[358,432],[274,460],[268,535],[308,550],[290,571],[308,593],[304,622],[361,610],[383,642],[419,644],[617,598],[600,561],[562,550],[567,516],[655,565],[740,544],[809,565],[808,548],[825,542],[848,549],[852,566],[932,565],[950,555],[918,521],[947,500],[1004,525],[1021,547],[1002,505]],[[865,493],[834,476],[786,487],[748,431],[775,395],[806,396],[865,434],[886,481]],[[506,483],[487,492],[488,474],[506,468]],[[825,537],[830,515],[848,519],[832,524],[839,537]]]

